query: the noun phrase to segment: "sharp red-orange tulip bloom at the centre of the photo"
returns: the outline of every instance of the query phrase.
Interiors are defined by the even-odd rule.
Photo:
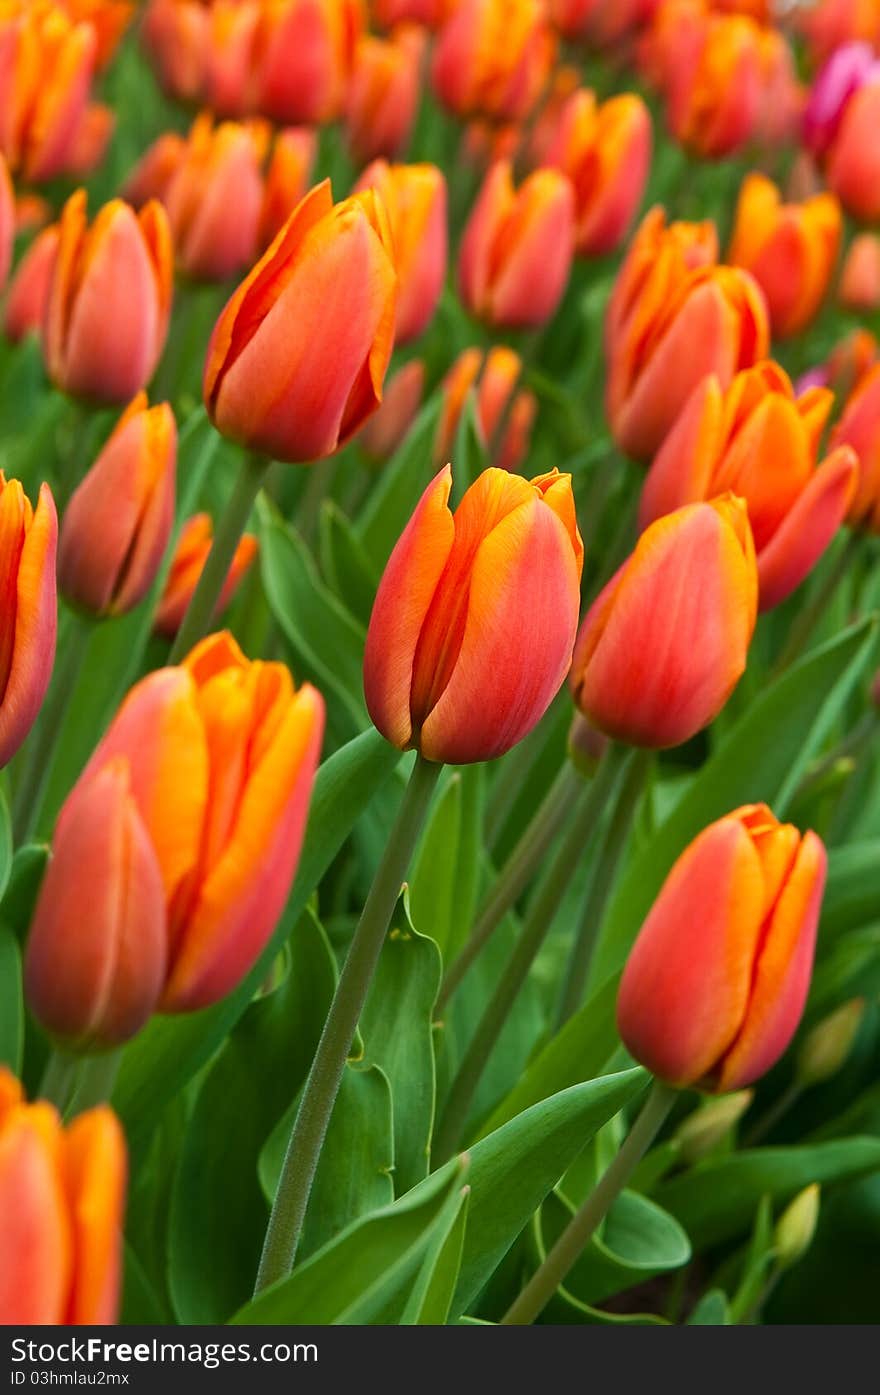
[[[484,470],[455,513],[443,467],[379,583],[364,656],[382,735],[427,760],[491,760],[544,716],[572,657],[583,545],[570,476]]]

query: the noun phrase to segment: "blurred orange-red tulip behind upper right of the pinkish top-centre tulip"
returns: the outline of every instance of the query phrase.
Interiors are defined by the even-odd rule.
[[[601,106],[586,89],[565,102],[544,163],[575,188],[575,250],[611,252],[642,202],[651,163],[651,119],[640,96],[625,92]]]

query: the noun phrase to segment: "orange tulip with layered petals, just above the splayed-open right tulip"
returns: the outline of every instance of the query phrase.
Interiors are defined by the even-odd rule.
[[[713,240],[706,225],[664,229],[662,209],[653,209],[618,273],[605,319],[605,410],[636,460],[654,455],[707,374],[727,388],[767,356],[764,297],[739,266],[706,265]]]

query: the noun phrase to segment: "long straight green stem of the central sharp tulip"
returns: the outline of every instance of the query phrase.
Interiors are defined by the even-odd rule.
[[[257,1289],[293,1268],[318,1158],[370,983],[442,766],[416,757],[410,783],[367,897],[331,1003],[287,1143]]]

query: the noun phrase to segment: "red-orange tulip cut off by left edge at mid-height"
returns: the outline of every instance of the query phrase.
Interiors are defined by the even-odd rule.
[[[52,677],[57,527],[49,485],[32,509],[0,470],[0,769],[33,725]]]

